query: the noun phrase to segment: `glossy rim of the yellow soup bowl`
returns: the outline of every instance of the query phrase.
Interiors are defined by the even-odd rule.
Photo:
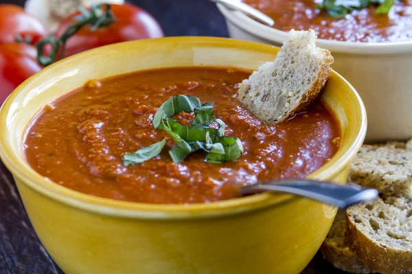
[[[100,55],[106,49],[117,49],[122,47],[127,47],[133,43],[176,43],[176,42],[187,42],[194,43],[196,45],[208,45],[208,47],[231,47],[232,49],[250,49],[253,51],[268,52],[276,49],[273,46],[265,45],[258,42],[249,42],[244,40],[235,40],[229,38],[214,38],[214,37],[168,37],[168,38],[152,38],[147,40],[135,40],[130,42],[122,42],[113,45],[108,45],[104,47],[99,47],[96,49],[91,49],[89,51],[84,51],[78,53],[65,60],[61,60],[47,66],[45,69],[39,71],[32,77],[28,78],[19,87],[12,92],[8,99],[3,103],[0,108],[0,132],[6,129],[9,110],[12,109],[12,102],[16,96],[23,92],[30,84],[30,82],[46,73],[52,69],[59,69],[60,66],[64,66],[67,60],[73,58],[82,58],[85,55]],[[202,44],[203,43],[203,44]],[[277,48],[278,49],[278,48]],[[332,177],[339,173],[345,168],[345,165],[350,162],[350,160],[360,149],[363,140],[366,135],[367,121],[366,121],[366,110],[363,105],[361,97],[358,95],[356,90],[338,73],[332,71],[334,77],[338,77],[339,81],[347,85],[350,90],[355,95],[358,104],[361,108],[361,125],[357,132],[355,140],[351,140],[352,145],[347,149],[340,158],[333,159],[321,166],[320,169],[314,171],[308,175],[310,178],[316,178],[319,180],[325,180],[328,177]],[[11,112],[11,111],[10,111]],[[22,160],[25,159],[21,155],[16,153],[12,146],[8,144],[8,138],[6,134],[0,134],[0,158],[3,164],[8,167],[12,173],[14,179],[19,179],[24,186],[29,187],[40,195],[45,195],[48,198],[58,201],[60,203],[65,203],[67,206],[77,208],[79,210],[84,210],[87,212],[94,212],[102,215],[124,217],[124,218],[137,218],[137,219],[196,219],[211,216],[226,216],[238,214],[241,212],[249,212],[251,210],[258,210],[260,208],[266,208],[268,206],[273,206],[275,204],[280,204],[284,202],[297,201],[303,199],[301,197],[295,197],[294,195],[279,194],[273,195],[270,193],[261,193],[258,195],[252,195],[249,197],[240,197],[236,199],[229,199],[224,201],[216,201],[212,203],[193,203],[189,205],[167,205],[167,204],[151,204],[151,203],[135,203],[130,201],[117,201],[114,199],[95,197],[92,195],[87,195],[76,190],[71,190],[59,184],[51,184],[51,181],[45,179],[45,177],[37,173],[36,177],[32,178],[29,173],[32,173],[32,169],[28,164],[22,164]],[[36,173],[34,171],[34,173]]]

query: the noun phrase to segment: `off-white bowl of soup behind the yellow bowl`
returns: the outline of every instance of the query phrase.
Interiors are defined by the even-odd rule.
[[[288,33],[218,4],[231,38],[282,46]],[[358,90],[368,115],[367,142],[412,137],[412,41],[342,42],[318,39],[334,56],[333,69]]]

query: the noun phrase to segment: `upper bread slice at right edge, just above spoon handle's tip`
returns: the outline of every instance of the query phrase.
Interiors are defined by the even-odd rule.
[[[364,145],[352,161],[350,182],[394,196],[412,194],[412,151]]]

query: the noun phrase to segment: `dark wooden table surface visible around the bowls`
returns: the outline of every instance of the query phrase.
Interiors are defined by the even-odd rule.
[[[1,1],[23,5],[24,0]],[[227,37],[225,21],[207,0],[136,0],[161,23],[166,36]],[[0,133],[1,134],[1,133]],[[0,274],[62,274],[38,240],[14,181],[0,162]],[[304,274],[343,274],[318,254]],[[94,273],[91,273],[94,274]],[[98,273],[97,273],[98,274]],[[220,274],[220,273],[219,273]]]

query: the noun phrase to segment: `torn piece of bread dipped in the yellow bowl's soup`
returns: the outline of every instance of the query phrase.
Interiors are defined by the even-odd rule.
[[[238,100],[262,121],[280,123],[316,99],[330,76],[332,55],[316,47],[314,31],[290,31],[277,53],[239,85]]]

